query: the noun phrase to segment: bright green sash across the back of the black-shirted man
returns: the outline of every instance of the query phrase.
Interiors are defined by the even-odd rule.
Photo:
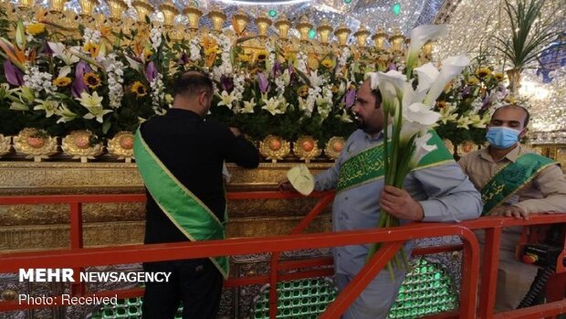
[[[204,203],[171,174],[145,143],[138,129],[133,153],[143,183],[162,211],[188,239],[225,239],[225,221],[221,222]],[[228,259],[211,258],[223,276],[228,276]]]

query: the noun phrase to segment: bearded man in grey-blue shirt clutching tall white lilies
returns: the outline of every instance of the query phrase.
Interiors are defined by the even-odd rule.
[[[422,144],[416,142],[417,149],[428,148],[428,154],[423,161],[417,161],[416,167],[404,179],[403,188],[385,186],[383,100],[376,86],[372,90],[372,81],[382,75],[373,74],[359,88],[351,111],[360,129],[351,134],[336,165],[315,176],[316,190],[337,191],[332,205],[332,229],[375,229],[383,211],[399,218],[401,224],[477,218],[481,211],[479,193],[432,131],[422,136]],[[427,142],[432,145],[426,145]],[[282,181],[280,187],[292,189],[288,180]],[[413,242],[405,244],[405,256],[410,256],[413,246]],[[366,244],[333,250],[335,278],[340,291],[362,270],[370,248],[371,245]],[[393,276],[392,280],[388,271],[381,271],[342,318],[385,318],[404,282],[404,267],[394,268]]]

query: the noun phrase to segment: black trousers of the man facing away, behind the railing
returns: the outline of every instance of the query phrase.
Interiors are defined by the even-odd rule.
[[[173,319],[183,301],[183,319],[215,319],[223,278],[209,259],[159,261],[143,264],[144,271],[171,272],[169,282],[146,282],[144,319]]]

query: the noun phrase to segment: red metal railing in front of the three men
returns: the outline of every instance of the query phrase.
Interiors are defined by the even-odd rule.
[[[300,197],[295,193],[286,192],[246,192],[229,193],[228,198],[236,199],[266,199],[266,198],[292,198]],[[331,264],[330,258],[314,258],[307,261],[278,261],[278,254],[285,250],[304,250],[328,248],[362,244],[369,242],[383,242],[380,254],[376,254],[351,284],[339,294],[334,303],[331,303],[321,318],[337,318],[363,291],[372,278],[381,271],[386,262],[393,256],[404,241],[429,237],[453,236],[460,237],[462,245],[435,247],[414,250],[415,254],[436,253],[449,250],[464,250],[462,262],[462,284],[460,290],[460,308],[457,313],[438,314],[433,317],[459,317],[459,318],[539,318],[560,314],[566,307],[566,302],[560,300],[554,303],[530,307],[512,312],[493,314],[495,291],[497,283],[498,266],[498,239],[501,229],[509,226],[528,226],[537,224],[550,224],[566,222],[564,215],[534,215],[529,221],[512,218],[480,218],[459,224],[414,223],[396,229],[359,230],[335,233],[297,234],[304,230],[309,222],[316,218],[320,211],[330,203],[332,193],[315,193],[312,197],[319,197],[320,203],[314,207],[299,226],[293,229],[288,236],[252,238],[252,239],[226,239],[205,242],[128,245],[108,248],[82,248],[82,222],[81,207],[83,203],[93,202],[142,202],[143,195],[103,195],[103,196],[32,196],[32,197],[0,197],[0,205],[10,204],[54,204],[68,203],[70,207],[70,250],[45,250],[35,252],[18,252],[0,254],[0,272],[14,272],[28,268],[74,268],[81,269],[88,266],[133,263],[142,261],[170,261],[191,258],[204,258],[215,256],[234,256],[251,253],[270,252],[271,272],[269,275],[251,276],[246,278],[231,278],[225,286],[249,285],[258,283],[271,284],[275,287],[279,281],[309,278],[320,275],[330,275],[331,270],[298,271],[285,273],[284,271],[298,268],[313,267]],[[476,309],[477,281],[479,272],[479,256],[477,239],[472,229],[486,229],[486,252],[482,269],[482,291],[479,297],[479,308]],[[564,251],[562,251],[562,255]],[[561,261],[561,259],[560,259]],[[563,270],[563,268],[562,268]],[[78,273],[79,271],[76,271]],[[563,287],[562,287],[563,289]],[[73,286],[72,292],[76,295],[93,295],[85,292],[82,283]],[[119,298],[129,298],[142,295],[142,289],[121,291],[96,292],[98,297],[118,295]],[[270,290],[270,317],[277,314],[277,290]],[[57,303],[58,298],[56,298]],[[60,302],[60,301],[59,301]],[[0,312],[16,309],[26,309],[33,305],[1,302]]]

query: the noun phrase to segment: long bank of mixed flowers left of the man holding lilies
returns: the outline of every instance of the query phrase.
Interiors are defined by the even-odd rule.
[[[349,48],[304,53],[292,41],[268,40],[250,53],[251,38],[241,32],[172,41],[161,21],[146,22],[128,34],[80,27],[76,37],[37,13],[18,21],[13,37],[6,28],[0,33],[0,121],[6,123],[0,133],[36,127],[62,136],[87,129],[106,139],[134,131],[167,111],[173,79],[188,69],[215,81],[211,116],[252,139],[309,134],[323,144],[353,131],[347,107],[365,69],[351,67]]]

